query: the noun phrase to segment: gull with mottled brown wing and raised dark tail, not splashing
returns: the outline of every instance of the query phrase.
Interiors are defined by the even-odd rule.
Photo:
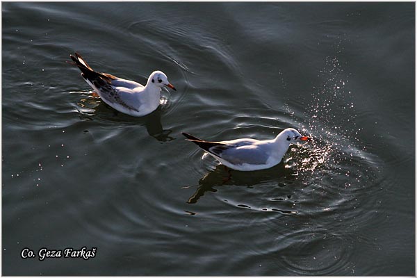
[[[95,72],[78,53],[70,57],[81,70],[83,79],[106,104],[133,117],[145,116],[158,108],[159,93],[163,86],[176,90],[168,82],[167,76],[159,70],[152,72],[143,86],[135,81]]]

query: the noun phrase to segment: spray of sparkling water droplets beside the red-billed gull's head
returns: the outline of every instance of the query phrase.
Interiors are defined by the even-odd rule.
[[[340,50],[338,51],[340,53]],[[296,147],[301,160],[287,158],[286,163],[303,172],[315,172],[328,165],[337,165],[350,159],[360,142],[356,129],[356,113],[351,91],[348,90],[349,73],[343,70],[343,63],[336,56],[327,56],[325,67],[318,73],[322,83],[313,87],[313,100],[304,111],[307,122],[299,123],[300,130],[313,137],[305,147]],[[287,113],[295,120],[295,113],[286,107]]]

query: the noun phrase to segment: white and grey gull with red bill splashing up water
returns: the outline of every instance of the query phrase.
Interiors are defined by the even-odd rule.
[[[254,171],[273,167],[281,162],[292,142],[310,140],[296,129],[284,129],[271,140],[240,138],[212,142],[199,139],[183,132],[187,140],[195,143],[224,166],[238,171]]]

